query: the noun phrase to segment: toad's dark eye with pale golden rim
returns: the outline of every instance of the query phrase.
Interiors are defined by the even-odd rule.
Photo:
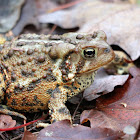
[[[88,48],[83,51],[83,55],[85,58],[94,58],[95,57],[95,49]]]

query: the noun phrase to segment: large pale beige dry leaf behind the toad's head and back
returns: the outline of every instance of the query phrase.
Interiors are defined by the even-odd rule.
[[[69,10],[39,16],[40,23],[62,28],[79,27],[79,32],[104,30],[109,44],[122,47],[136,60],[140,56],[140,7],[124,3],[86,0]]]

